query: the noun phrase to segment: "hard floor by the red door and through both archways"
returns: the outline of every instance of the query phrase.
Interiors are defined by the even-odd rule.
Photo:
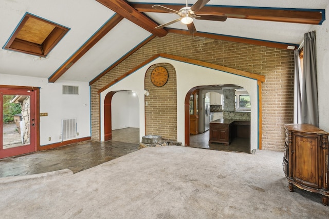
[[[190,147],[250,153],[250,140],[241,141],[236,139],[229,146],[223,144],[209,145],[208,141],[209,131],[191,135]],[[112,141],[86,141],[46,151],[4,158],[0,160],[0,177],[31,175],[62,169],[69,169],[77,173],[136,151],[138,148],[139,128],[113,130]]]

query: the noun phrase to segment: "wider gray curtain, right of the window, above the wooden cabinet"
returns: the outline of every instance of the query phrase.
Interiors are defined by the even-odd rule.
[[[304,34],[302,123],[319,127],[315,32]]]

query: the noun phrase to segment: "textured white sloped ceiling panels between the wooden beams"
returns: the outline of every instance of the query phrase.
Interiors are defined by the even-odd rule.
[[[185,4],[184,0],[129,0],[129,2]],[[196,0],[188,0],[189,4],[194,4],[195,2]],[[328,0],[211,0],[208,3],[208,5],[305,9],[325,9],[328,4]],[[95,0],[2,0],[0,7],[1,47],[6,44],[8,38],[26,12],[68,27],[70,30],[46,58],[0,49],[0,74],[50,77],[115,14],[112,10],[109,10]],[[168,13],[146,14],[158,24],[167,23],[177,18],[177,15]],[[288,44],[301,43],[303,34],[315,29],[314,25],[233,18],[228,18],[226,22],[200,20],[194,22],[199,32]],[[180,23],[173,24],[170,27],[187,29],[185,25]],[[101,41],[80,58],[77,63],[69,68],[60,79],[90,82],[150,35],[150,32],[123,19]]]

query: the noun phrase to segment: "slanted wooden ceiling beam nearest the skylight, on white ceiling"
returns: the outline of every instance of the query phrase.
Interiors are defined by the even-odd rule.
[[[89,40],[80,47],[59,69],[56,70],[49,78],[49,83],[54,83],[60,78],[72,65],[74,65],[89,49],[100,41],[110,30],[112,30],[120,21],[123,16],[115,14],[107,21]]]

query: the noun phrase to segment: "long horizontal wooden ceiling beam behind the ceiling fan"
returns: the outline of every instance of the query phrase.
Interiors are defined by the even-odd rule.
[[[153,4],[131,3],[133,8],[139,12],[159,12],[153,9]],[[170,9],[179,11],[185,5],[161,4]],[[291,8],[262,8],[262,7],[234,7],[234,6],[212,6],[206,5],[200,9],[198,14],[225,15],[229,18],[255,19],[259,21],[287,22],[299,24],[321,25],[324,21],[324,10],[320,9],[291,9]]]

